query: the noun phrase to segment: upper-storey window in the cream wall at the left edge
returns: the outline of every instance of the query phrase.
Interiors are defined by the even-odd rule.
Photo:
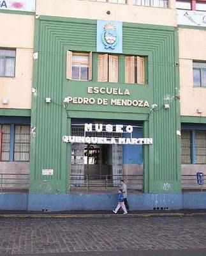
[[[15,76],[16,51],[0,49],[0,76]]]

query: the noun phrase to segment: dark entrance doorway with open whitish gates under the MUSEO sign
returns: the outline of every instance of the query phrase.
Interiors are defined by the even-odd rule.
[[[71,135],[107,138],[122,136],[117,132],[85,132],[84,125],[72,125]],[[84,186],[85,180],[106,179],[113,186],[118,186],[122,179],[122,145],[72,143],[71,186]]]

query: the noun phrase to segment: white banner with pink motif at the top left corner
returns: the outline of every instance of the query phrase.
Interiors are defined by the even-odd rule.
[[[35,0],[0,1],[0,10],[35,12]]]

